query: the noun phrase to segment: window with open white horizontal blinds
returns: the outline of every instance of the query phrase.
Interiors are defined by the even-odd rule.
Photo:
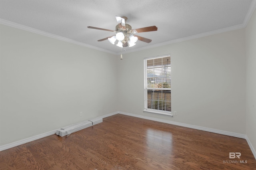
[[[145,111],[171,115],[171,57],[144,59]]]

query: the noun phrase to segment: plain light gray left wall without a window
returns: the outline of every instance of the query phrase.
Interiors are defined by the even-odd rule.
[[[112,54],[0,29],[0,146],[117,111]]]

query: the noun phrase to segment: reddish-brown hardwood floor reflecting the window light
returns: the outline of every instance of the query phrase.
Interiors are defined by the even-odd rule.
[[[69,136],[4,150],[0,169],[256,170],[256,160],[245,139],[118,114]]]

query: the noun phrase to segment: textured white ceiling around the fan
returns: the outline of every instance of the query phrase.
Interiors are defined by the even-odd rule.
[[[158,27],[138,33],[152,42],[126,47],[131,52],[244,28],[255,6],[255,0],[0,0],[0,23],[118,54],[120,47],[97,41],[114,33],[87,26],[115,30],[115,16],[126,16],[133,29]]]

